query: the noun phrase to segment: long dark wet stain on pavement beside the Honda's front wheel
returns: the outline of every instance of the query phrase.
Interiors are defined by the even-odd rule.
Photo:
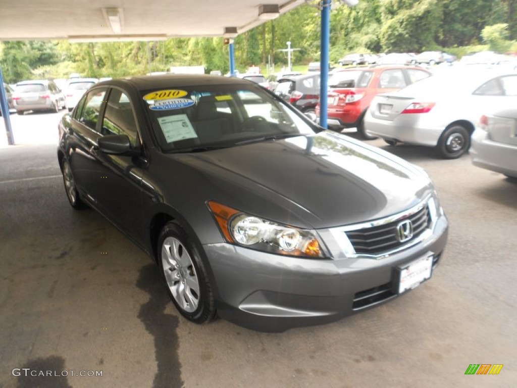
[[[158,371],[153,387],[182,387],[184,382],[181,380],[178,356],[178,317],[165,314],[165,308],[172,305],[172,302],[156,264],[148,264],[140,269],[136,287],[149,294],[149,300],[140,307],[138,318],[155,339]]]

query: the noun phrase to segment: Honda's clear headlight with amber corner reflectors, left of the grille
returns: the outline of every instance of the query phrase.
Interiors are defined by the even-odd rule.
[[[323,257],[322,245],[314,231],[241,213],[213,201],[208,202],[208,207],[229,243],[281,255]]]

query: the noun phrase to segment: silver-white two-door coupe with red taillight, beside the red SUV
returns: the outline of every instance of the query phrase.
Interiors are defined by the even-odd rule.
[[[364,125],[388,144],[437,147],[443,158],[454,159],[468,151],[480,112],[509,103],[517,106],[517,72],[451,69],[377,95]]]

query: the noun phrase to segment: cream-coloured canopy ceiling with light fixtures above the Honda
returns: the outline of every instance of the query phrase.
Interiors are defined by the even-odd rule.
[[[1,0],[0,40],[91,41],[234,37],[304,2],[305,0]]]

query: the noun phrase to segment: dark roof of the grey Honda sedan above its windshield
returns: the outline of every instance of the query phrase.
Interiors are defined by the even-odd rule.
[[[165,87],[205,86],[205,85],[249,85],[251,81],[235,77],[214,77],[210,74],[164,74],[161,76],[135,76],[115,78],[102,81],[96,86],[114,85],[127,87],[132,85],[139,90],[163,89]]]

